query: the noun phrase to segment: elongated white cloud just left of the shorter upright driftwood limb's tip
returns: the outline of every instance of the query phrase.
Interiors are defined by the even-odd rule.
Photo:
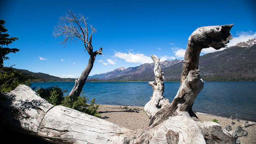
[[[151,59],[151,57],[147,57],[144,54],[140,54],[140,53],[121,53],[121,52],[116,52],[114,54],[114,57],[116,58],[121,58],[124,59],[126,62],[129,63],[153,63],[153,60]]]

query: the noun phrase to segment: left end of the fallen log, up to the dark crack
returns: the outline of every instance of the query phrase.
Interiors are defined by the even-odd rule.
[[[1,109],[5,110],[2,118],[11,129],[26,130],[27,134],[36,134],[45,113],[54,107],[25,85],[19,85],[6,95],[8,99],[0,101]]]

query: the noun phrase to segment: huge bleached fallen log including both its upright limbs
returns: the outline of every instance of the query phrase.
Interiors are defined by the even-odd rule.
[[[3,122],[11,129],[52,143],[76,144],[234,144],[230,132],[218,123],[198,121],[192,105],[203,89],[198,62],[203,48],[220,49],[231,39],[233,24],[201,27],[189,37],[181,85],[174,100],[163,98],[163,73],[154,60],[156,81],[145,112],[151,118],[147,129],[133,131],[103,119],[63,106],[53,106],[30,87],[19,85],[0,102]],[[196,121],[195,121],[196,120]]]

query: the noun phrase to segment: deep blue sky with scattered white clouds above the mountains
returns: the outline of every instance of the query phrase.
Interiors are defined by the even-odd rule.
[[[0,19],[9,35],[19,38],[9,47],[20,49],[9,54],[4,65],[77,78],[89,60],[82,42],[63,47],[63,39],[52,36],[59,17],[69,9],[89,17],[87,22],[97,30],[92,44],[94,50],[103,47],[103,55],[96,57],[90,73],[94,75],[152,62],[152,54],[161,60],[182,59],[188,37],[202,26],[233,23],[234,39],[228,46],[256,38],[255,5],[253,0],[3,0]],[[202,54],[213,51],[203,49]]]

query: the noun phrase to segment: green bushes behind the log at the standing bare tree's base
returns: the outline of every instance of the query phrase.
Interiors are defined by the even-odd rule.
[[[58,86],[51,86],[48,88],[37,88],[36,93],[44,98],[52,105],[62,105],[64,107],[72,108],[77,111],[90,114],[95,117],[100,117],[98,110],[99,105],[95,103],[95,98],[91,100],[91,104],[86,104],[88,98],[82,93],[80,96],[69,96],[63,97],[63,93],[67,90],[63,90]]]

